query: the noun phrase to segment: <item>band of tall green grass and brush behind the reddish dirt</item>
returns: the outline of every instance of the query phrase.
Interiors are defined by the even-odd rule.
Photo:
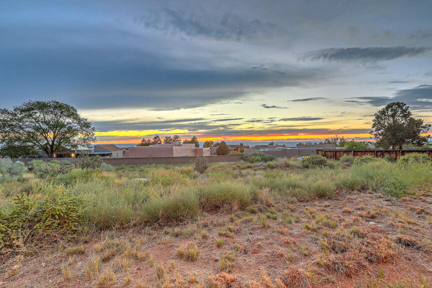
[[[43,180],[26,176],[1,183],[0,208],[10,209],[10,197],[22,192],[31,198],[43,198],[48,194],[44,185],[53,182],[65,185],[77,197],[85,223],[109,228],[130,223],[178,222],[195,217],[202,210],[243,208],[261,199],[261,191],[270,191],[266,197],[307,200],[332,197],[338,190],[360,189],[403,196],[432,184],[428,163],[400,165],[375,160],[351,168],[335,162],[334,168],[307,169],[295,159],[269,163],[265,169],[245,162],[212,164],[203,177],[196,177],[191,165],[122,166],[92,172],[76,169]],[[248,172],[242,173],[242,169]],[[129,178],[147,181],[128,182]]]

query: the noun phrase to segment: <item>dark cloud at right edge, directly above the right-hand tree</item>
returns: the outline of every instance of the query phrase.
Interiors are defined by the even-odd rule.
[[[432,110],[432,85],[419,85],[409,89],[397,90],[393,96],[362,96],[354,97],[358,100],[345,100],[364,103],[372,106],[384,106],[389,102],[405,102],[412,110]]]

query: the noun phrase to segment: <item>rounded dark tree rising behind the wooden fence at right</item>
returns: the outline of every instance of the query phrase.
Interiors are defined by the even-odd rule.
[[[376,147],[402,149],[402,145],[407,143],[421,146],[430,138],[430,135],[425,135],[430,124],[412,117],[409,106],[403,102],[388,103],[374,116],[370,134],[376,140]]]

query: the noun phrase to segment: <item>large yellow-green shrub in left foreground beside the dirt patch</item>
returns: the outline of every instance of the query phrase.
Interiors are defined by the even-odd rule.
[[[12,198],[9,209],[0,210],[0,248],[14,248],[39,231],[69,233],[82,221],[78,198],[64,186],[44,183],[37,189],[46,194],[44,199],[22,193]]]

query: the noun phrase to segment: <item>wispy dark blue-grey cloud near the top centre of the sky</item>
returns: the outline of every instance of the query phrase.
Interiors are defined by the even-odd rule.
[[[189,37],[241,40],[256,37],[270,37],[277,32],[277,26],[268,21],[246,20],[233,13],[221,16],[192,15],[184,11],[163,9],[156,15],[136,17],[135,21],[146,28],[150,27],[171,34]]]

